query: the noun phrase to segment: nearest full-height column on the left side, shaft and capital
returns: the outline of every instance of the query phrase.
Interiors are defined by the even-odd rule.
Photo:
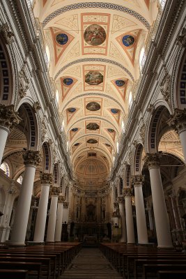
[[[24,159],[24,177],[20,197],[17,202],[15,220],[10,238],[10,244],[15,246],[24,246],[26,228],[29,220],[29,211],[31,206],[31,197],[33,193],[33,181],[36,167],[39,165],[41,158],[39,151],[27,151],[23,153]]]

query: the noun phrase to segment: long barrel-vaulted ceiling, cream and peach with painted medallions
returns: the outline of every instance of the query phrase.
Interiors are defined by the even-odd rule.
[[[79,183],[103,186],[157,1],[36,0],[59,112]]]

